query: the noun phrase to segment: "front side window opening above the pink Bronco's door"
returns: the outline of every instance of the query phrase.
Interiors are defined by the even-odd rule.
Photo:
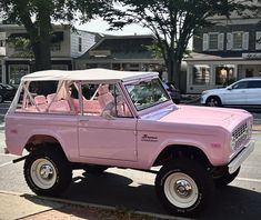
[[[82,84],[83,114],[104,118],[132,117],[122,94],[116,84]]]

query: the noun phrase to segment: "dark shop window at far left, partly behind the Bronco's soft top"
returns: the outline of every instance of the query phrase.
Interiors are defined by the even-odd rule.
[[[10,64],[9,66],[9,83],[10,84],[19,84],[20,79],[29,73],[28,64]]]

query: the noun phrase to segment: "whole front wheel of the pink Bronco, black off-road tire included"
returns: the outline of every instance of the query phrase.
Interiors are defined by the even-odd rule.
[[[167,163],[155,178],[157,194],[174,216],[197,216],[210,201],[213,189],[213,180],[207,170],[189,159]]]

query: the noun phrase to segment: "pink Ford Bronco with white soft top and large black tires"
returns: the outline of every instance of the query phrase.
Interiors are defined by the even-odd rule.
[[[51,84],[51,90],[43,89]],[[6,116],[7,151],[26,159],[37,194],[59,196],[73,169],[159,167],[164,208],[193,216],[214,186],[227,186],[254,149],[243,110],[175,106],[158,73],[106,69],[49,70],[21,79]]]

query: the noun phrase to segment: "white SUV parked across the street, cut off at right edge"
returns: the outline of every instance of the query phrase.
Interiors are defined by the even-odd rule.
[[[261,107],[261,78],[247,78],[227,88],[205,90],[201,94],[201,103],[209,107]]]

